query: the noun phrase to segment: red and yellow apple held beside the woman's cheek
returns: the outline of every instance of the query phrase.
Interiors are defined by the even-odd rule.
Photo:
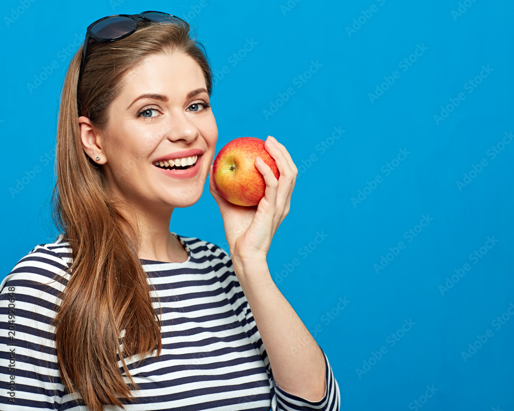
[[[256,206],[264,197],[266,182],[255,167],[257,156],[270,166],[278,179],[277,164],[264,148],[264,140],[259,138],[240,137],[229,141],[214,159],[214,184],[223,198],[232,204]]]

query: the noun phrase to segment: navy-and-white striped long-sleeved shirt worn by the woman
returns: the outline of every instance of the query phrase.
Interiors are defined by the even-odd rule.
[[[155,350],[142,362],[137,356],[126,360],[139,385],[127,411],[339,410],[339,387],[326,354],[322,351],[322,400],[308,401],[280,388],[230,256],[211,242],[172,234],[188,252],[186,261],[141,259],[155,288],[151,296],[161,321],[162,351],[158,361]],[[64,391],[50,325],[70,262],[61,234],[36,246],[0,283],[0,410],[88,410],[80,394]],[[55,274],[64,284],[52,281]],[[121,408],[105,405],[104,410]]]

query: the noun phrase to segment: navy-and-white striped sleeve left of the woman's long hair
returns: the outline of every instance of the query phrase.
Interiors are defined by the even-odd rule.
[[[37,246],[0,283],[0,409],[59,408],[63,386],[50,322],[62,287],[52,278],[65,265]]]

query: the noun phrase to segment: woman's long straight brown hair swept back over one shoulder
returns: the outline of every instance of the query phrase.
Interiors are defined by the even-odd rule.
[[[137,254],[139,230],[124,217],[123,204],[113,202],[104,191],[102,167],[83,151],[78,117],[84,115],[99,130],[105,129],[108,107],[127,73],[144,58],[166,51],[192,57],[211,94],[212,72],[204,47],[175,24],[140,22],[125,39],[91,42],[78,96],[82,47],[64,79],[52,217],[69,242],[72,262],[53,325],[62,383],[69,393],[80,393],[92,411],[101,411],[103,404],[124,408],[124,400],[133,400],[130,390],[138,386],[124,358],[137,354],[141,361],[157,349],[158,359],[162,344],[151,287]],[[123,379],[120,360],[132,388]]]

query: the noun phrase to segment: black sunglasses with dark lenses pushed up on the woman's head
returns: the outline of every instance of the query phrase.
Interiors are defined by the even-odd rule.
[[[91,23],[87,27],[86,38],[84,40],[82,50],[82,61],[80,63],[79,80],[77,82],[77,95],[86,62],[89,40],[93,39],[101,43],[110,43],[124,39],[137,30],[138,20],[140,18],[147,22],[179,24],[185,26],[189,31],[189,24],[186,21],[182,20],[180,17],[174,16],[173,14],[162,13],[160,11],[143,11],[139,14],[113,14]]]

